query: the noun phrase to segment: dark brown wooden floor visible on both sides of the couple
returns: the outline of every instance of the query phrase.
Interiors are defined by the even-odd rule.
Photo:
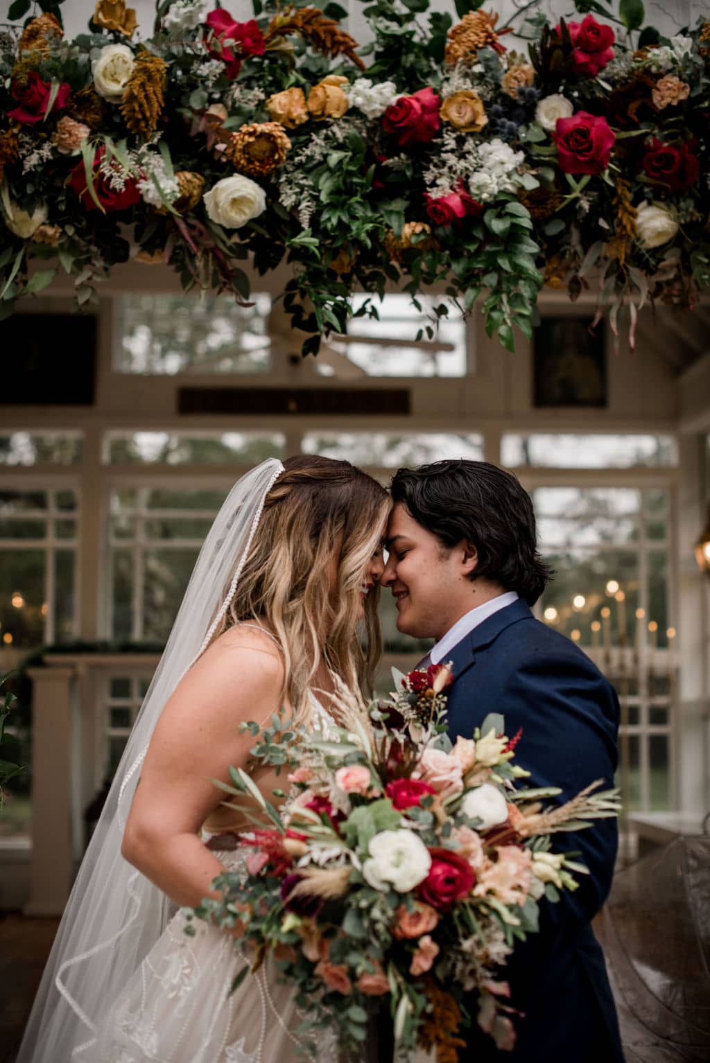
[[[58,919],[0,914],[0,1063],[14,1063],[57,926]],[[603,917],[595,921],[594,929],[604,943]],[[638,1023],[616,992],[612,968],[609,975],[627,1063],[681,1063],[683,1056],[658,1044]]]

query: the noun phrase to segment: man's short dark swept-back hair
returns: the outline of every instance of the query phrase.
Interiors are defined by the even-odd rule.
[[[399,469],[392,502],[401,502],[445,547],[466,539],[475,546],[479,576],[538,601],[553,571],[537,549],[535,511],[527,491],[509,472],[487,461],[435,461]]]

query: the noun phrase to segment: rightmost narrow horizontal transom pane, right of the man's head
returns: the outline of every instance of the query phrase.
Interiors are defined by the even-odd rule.
[[[674,466],[677,448],[673,436],[507,434],[501,441],[504,466],[540,466],[558,469],[628,469],[633,466]]]

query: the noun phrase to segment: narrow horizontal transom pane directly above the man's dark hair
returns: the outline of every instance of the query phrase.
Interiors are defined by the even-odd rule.
[[[303,437],[304,454],[320,454],[326,458],[340,458],[355,465],[401,466],[424,465],[443,458],[470,458],[483,460],[484,443],[475,433],[402,434],[385,432],[308,432]]]

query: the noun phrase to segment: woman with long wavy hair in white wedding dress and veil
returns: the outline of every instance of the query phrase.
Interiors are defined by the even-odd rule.
[[[60,926],[17,1063],[290,1063],[292,994],[182,906],[243,850],[213,779],[246,767],[239,724],[282,706],[323,725],[329,674],[368,688],[388,496],[350,462],[269,460],[230,492],[200,552]],[[356,627],[365,621],[367,651]],[[327,703],[327,697],[325,697]],[[270,798],[283,784],[254,774]],[[212,838],[212,842],[209,839]],[[214,894],[213,894],[214,895]],[[318,1059],[334,1046],[318,1045]]]

